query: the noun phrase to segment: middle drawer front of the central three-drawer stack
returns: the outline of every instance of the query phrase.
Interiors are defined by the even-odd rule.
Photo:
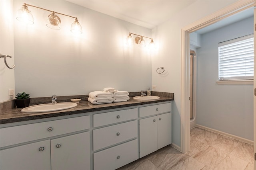
[[[137,121],[93,130],[93,150],[102,149],[138,136]]]

